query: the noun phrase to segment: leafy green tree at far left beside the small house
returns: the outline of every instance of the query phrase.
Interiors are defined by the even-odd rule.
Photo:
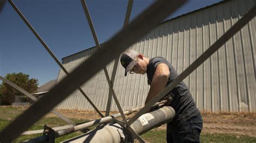
[[[6,74],[5,78],[29,93],[35,92],[38,87],[38,80],[30,78],[29,75],[23,73]],[[0,101],[4,105],[10,105],[14,102],[15,96],[24,96],[21,92],[11,87],[9,84],[3,82],[0,86]]]

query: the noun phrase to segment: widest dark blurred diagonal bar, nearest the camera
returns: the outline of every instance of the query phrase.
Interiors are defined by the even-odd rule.
[[[11,142],[17,138],[19,134],[42,118],[59,102],[62,102],[68,97],[77,87],[88,81],[100,69],[119,56],[139,38],[152,30],[157,24],[164,20],[164,18],[177,10],[185,2],[186,0],[155,1],[127,27],[115,34],[109,42],[102,46],[101,50],[96,51],[87,60],[83,61],[70,75],[64,77],[63,80],[56,84],[45,96],[40,98],[35,104],[30,106],[29,109],[24,111],[22,115],[19,115],[6,126],[0,132],[0,142]],[[53,96],[56,94],[59,96]]]

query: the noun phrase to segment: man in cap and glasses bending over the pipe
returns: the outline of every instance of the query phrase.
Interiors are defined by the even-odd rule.
[[[128,72],[147,74],[150,90],[145,104],[178,76],[171,63],[164,58],[149,59],[132,49],[122,54],[120,62],[125,68],[125,76]],[[173,97],[169,106],[175,110],[176,116],[167,124],[167,142],[200,142],[203,119],[185,83],[179,83],[166,96],[169,95]]]

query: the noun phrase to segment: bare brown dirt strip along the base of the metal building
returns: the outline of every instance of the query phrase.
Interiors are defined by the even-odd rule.
[[[95,111],[78,111],[78,110],[57,110],[66,117],[76,119],[99,119],[100,116]],[[105,112],[102,112],[105,115]],[[117,112],[111,112],[111,115]],[[134,115],[134,114],[133,114]],[[128,118],[133,115],[128,116]],[[248,112],[202,112],[203,115],[203,133],[225,133],[233,135],[248,135],[256,137],[256,113]],[[49,114],[47,116],[55,116]],[[154,130],[165,130],[166,125],[162,125]]]

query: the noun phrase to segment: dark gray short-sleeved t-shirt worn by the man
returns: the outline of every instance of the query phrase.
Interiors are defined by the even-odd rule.
[[[152,58],[149,61],[149,65],[147,65],[146,73],[148,84],[151,85],[156,68],[160,63],[165,63],[169,67],[170,75],[166,85],[171,83],[178,76],[177,71],[173,68],[169,61],[162,57]],[[174,95],[170,106],[172,106],[176,112],[176,116],[174,117],[172,123],[183,123],[184,121],[200,114],[196,103],[194,102],[191,93],[184,82],[180,82],[171,92],[169,92],[169,95],[170,94]]]

